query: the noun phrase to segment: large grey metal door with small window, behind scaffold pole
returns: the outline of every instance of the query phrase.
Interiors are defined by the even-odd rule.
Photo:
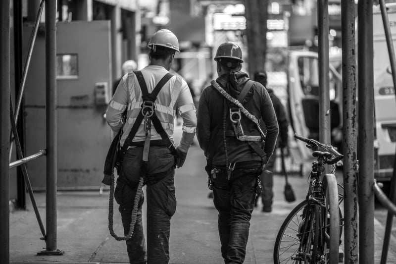
[[[26,26],[24,35],[31,35]],[[110,99],[109,21],[57,23],[57,186],[98,188],[111,141],[103,114]],[[27,51],[27,49],[25,49]],[[39,32],[25,93],[26,153],[46,147],[45,36]],[[32,186],[46,186],[46,159],[28,164]]]

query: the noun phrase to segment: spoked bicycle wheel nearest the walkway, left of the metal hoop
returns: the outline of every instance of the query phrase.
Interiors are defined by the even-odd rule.
[[[309,206],[308,206],[309,204]],[[274,264],[314,264],[319,239],[319,206],[304,200],[285,218],[274,246]]]

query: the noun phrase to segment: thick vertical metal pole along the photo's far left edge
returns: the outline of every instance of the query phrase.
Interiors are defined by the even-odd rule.
[[[10,1],[0,1],[0,263],[9,263]]]

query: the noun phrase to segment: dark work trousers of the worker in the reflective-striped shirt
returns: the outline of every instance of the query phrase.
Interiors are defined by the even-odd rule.
[[[125,235],[129,232],[136,190],[141,177],[139,169],[142,154],[143,148],[130,148],[126,152],[114,192],[114,199],[119,204]],[[176,211],[173,164],[174,157],[166,147],[150,147],[148,178],[155,173],[164,171],[167,173],[161,174],[161,179],[157,179],[153,184],[148,184],[146,188],[147,250],[142,224],[143,195],[139,201],[134,233],[126,241],[130,264],[169,263],[170,219]]]

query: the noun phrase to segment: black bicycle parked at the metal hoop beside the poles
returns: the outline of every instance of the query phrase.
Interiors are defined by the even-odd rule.
[[[333,146],[295,134],[313,150],[312,170],[308,176],[308,193],[285,218],[274,247],[274,264],[339,263],[339,246],[344,219],[340,209],[344,201],[343,186],[334,172],[342,165],[343,155]],[[325,164],[331,173],[325,174]],[[338,192],[338,187],[342,192]]]

